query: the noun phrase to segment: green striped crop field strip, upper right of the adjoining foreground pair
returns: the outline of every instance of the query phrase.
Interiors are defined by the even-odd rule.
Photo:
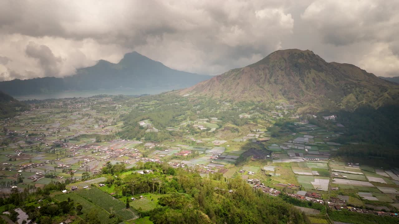
[[[101,191],[98,188],[92,188],[89,190],[79,190],[76,193],[84,198],[91,200],[94,204],[107,210],[107,212],[115,212],[117,216],[120,216],[123,220],[130,220],[138,218],[138,215],[134,210],[126,209],[126,204],[122,201],[114,198],[111,195]]]

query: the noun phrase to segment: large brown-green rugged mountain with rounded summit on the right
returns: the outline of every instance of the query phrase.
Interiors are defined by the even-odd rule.
[[[397,103],[399,85],[346,63],[327,63],[312,51],[279,50],[243,68],[232,69],[180,90],[235,101],[279,100],[302,105],[302,110],[353,110],[362,104],[377,108]]]

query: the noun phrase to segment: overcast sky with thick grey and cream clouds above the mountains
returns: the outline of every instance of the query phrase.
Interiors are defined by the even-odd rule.
[[[218,75],[278,49],[399,76],[399,1],[2,0],[0,80],[73,75],[137,51]]]

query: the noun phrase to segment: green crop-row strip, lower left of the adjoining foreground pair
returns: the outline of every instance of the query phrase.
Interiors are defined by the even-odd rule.
[[[108,224],[110,219],[109,219],[109,213],[104,210],[103,208],[100,208],[99,206],[89,202],[88,200],[86,200],[85,198],[75,194],[75,193],[71,193],[71,194],[62,194],[62,195],[57,195],[55,196],[56,200],[59,201],[63,201],[63,200],[68,200],[68,198],[71,198],[75,204],[79,203],[83,206],[82,212],[83,212],[83,216],[84,217],[85,214],[89,213],[91,210],[96,210],[98,213],[98,218],[101,222],[101,224]],[[113,218],[115,219],[115,218]],[[111,219],[111,221],[113,221],[113,219]]]

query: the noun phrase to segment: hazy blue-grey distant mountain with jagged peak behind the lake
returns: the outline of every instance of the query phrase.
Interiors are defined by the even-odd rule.
[[[98,90],[116,88],[180,89],[209,79],[166,67],[137,52],[127,53],[119,63],[99,60],[96,65],[78,69],[70,77],[45,77],[0,82],[0,89],[10,95],[26,95],[61,90]]]

